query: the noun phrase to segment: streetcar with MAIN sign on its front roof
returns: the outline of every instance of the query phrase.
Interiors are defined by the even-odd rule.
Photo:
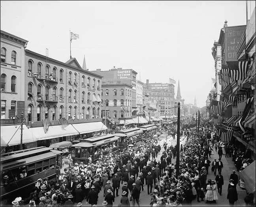
[[[119,137],[115,134],[94,136],[79,140],[80,142],[71,146],[71,158],[73,163],[87,164],[91,155],[92,162],[95,162],[100,156],[119,152]]]

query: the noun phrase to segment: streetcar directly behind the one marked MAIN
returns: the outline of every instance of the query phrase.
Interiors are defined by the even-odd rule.
[[[129,144],[135,144],[141,140],[143,131],[138,127],[129,128],[116,131],[115,136],[119,137],[119,150],[125,150]]]

